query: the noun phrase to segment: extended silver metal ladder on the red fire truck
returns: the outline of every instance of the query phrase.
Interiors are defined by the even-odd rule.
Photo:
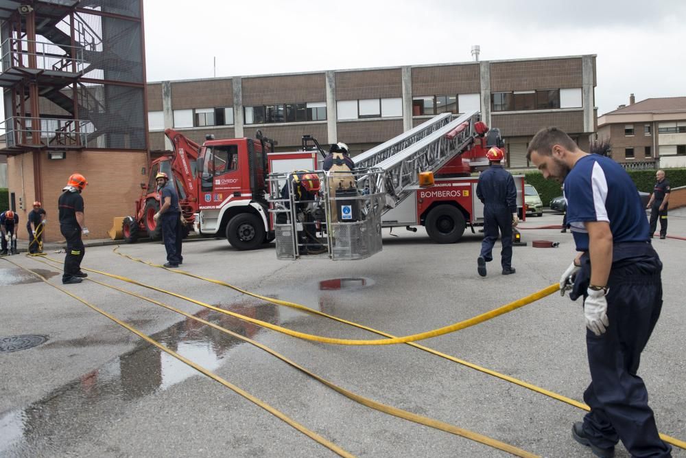
[[[375,188],[386,194],[386,207],[395,207],[411,194],[410,187],[418,183],[419,172],[435,172],[456,154],[469,146],[475,137],[474,123],[478,111],[464,113],[453,119],[451,113],[438,115],[412,130],[386,141],[353,158],[356,168],[375,167]],[[452,139],[446,137],[464,124]]]

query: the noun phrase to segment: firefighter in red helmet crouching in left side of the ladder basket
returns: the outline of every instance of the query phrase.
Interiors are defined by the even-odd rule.
[[[294,170],[281,188],[281,198],[286,199],[285,207],[290,209],[289,197],[291,191],[293,200],[296,202],[295,216],[296,225],[299,223],[303,229],[298,231],[298,252],[300,255],[320,254],[327,251],[316,233],[322,228],[322,220],[326,220],[324,212],[316,202],[321,189],[319,176],[311,170]],[[277,224],[289,222],[285,213],[276,217]]]

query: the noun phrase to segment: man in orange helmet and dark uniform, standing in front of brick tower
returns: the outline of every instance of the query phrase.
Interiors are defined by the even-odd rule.
[[[67,186],[62,188],[58,199],[60,210],[60,232],[67,240],[67,255],[64,257],[63,284],[81,283],[88,274],[81,271],[81,262],[86,255],[86,248],[81,236],[88,235],[86,217],[84,216],[84,199],[81,192],[88,182],[79,173],[69,176]]]

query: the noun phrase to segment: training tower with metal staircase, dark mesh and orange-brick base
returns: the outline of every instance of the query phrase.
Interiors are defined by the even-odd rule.
[[[106,237],[139,196],[149,162],[142,3],[0,0],[10,207],[23,225],[41,201],[53,222],[48,241],[63,239],[57,201],[74,172],[89,183],[93,238]]]

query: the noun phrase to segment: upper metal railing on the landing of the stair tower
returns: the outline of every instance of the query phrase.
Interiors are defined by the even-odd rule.
[[[36,48],[33,52],[29,52],[31,43]],[[8,38],[2,43],[2,53],[3,72],[11,68],[36,68],[81,73],[85,68],[83,47],[78,46]]]

